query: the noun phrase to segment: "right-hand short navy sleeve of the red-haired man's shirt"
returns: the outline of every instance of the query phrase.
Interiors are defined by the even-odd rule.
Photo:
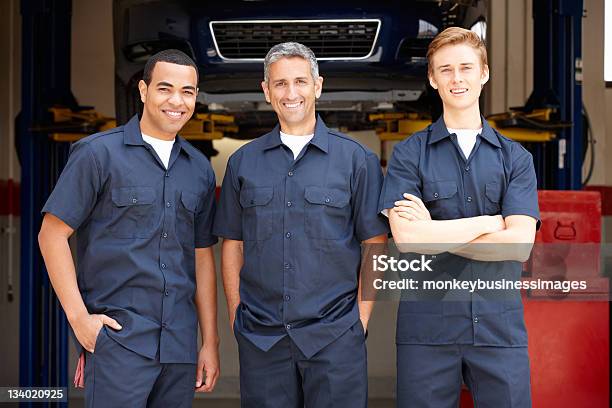
[[[538,207],[538,183],[531,153],[519,146],[512,165],[510,182],[502,199],[502,216],[528,215],[537,221],[540,228]]]

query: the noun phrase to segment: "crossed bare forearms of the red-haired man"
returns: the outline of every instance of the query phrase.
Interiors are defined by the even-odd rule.
[[[524,262],[529,258],[536,231],[532,217],[484,215],[432,220],[421,199],[412,194],[404,194],[404,198],[389,210],[391,232],[402,252],[451,252],[478,261]]]

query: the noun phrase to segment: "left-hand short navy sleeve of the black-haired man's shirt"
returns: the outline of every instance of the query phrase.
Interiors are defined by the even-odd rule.
[[[70,147],[68,162],[41,213],[51,213],[76,230],[96,206],[101,187],[98,161],[91,146],[77,142]]]

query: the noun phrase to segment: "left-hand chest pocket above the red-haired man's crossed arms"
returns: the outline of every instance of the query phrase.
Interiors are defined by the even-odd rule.
[[[461,218],[457,201],[457,182],[434,181],[423,185],[423,202],[432,220]]]

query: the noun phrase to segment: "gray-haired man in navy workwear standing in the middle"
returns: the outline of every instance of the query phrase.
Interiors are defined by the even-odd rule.
[[[315,114],[323,78],[298,43],[268,52],[279,124],[229,159],[213,231],[243,407],[365,407],[362,243],[384,243],[378,158]]]

